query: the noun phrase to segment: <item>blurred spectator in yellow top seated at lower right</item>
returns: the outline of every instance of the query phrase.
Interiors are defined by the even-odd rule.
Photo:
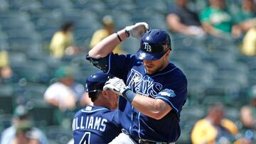
[[[252,143],[250,139],[239,138],[238,134],[235,123],[225,118],[223,105],[213,104],[208,109],[208,116],[193,127],[191,140],[194,144]]]

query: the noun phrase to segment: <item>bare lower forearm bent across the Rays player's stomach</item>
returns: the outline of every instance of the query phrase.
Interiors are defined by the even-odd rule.
[[[134,97],[132,106],[146,116],[155,119],[161,119],[171,111],[171,106],[161,99],[152,99],[139,94]]]

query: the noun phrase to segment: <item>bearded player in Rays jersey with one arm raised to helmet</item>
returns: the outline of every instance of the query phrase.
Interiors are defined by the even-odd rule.
[[[147,23],[127,26],[102,40],[87,55],[93,65],[115,76],[104,89],[121,95],[119,121],[123,129],[111,143],[175,143],[181,133],[179,121],[187,80],[169,62],[169,35],[148,29]],[[141,40],[137,54],[113,54],[114,47],[129,36]]]

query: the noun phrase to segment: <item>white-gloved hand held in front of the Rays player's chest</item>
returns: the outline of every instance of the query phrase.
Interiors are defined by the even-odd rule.
[[[112,79],[109,79],[106,83],[105,86],[103,87],[103,90],[110,89],[114,93],[118,94],[119,96],[122,96],[122,93],[126,90],[129,89],[129,87],[124,84],[124,81],[122,79],[119,79],[118,77],[114,77]]]

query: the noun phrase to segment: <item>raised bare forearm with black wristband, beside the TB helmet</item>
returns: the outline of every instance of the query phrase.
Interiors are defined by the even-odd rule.
[[[120,40],[117,36],[117,33]],[[127,38],[124,29],[118,31],[117,33],[113,33],[112,35],[108,36],[104,40],[100,41],[100,43],[95,45],[95,47],[89,51],[89,56],[93,58],[100,58],[106,57],[108,54],[110,54],[114,50],[114,48],[119,45],[119,43],[121,43],[121,40],[124,41]]]

